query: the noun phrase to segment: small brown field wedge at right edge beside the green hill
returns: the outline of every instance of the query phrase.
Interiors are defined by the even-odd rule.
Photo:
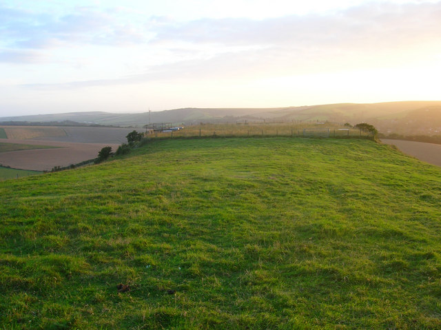
[[[408,154],[427,163],[441,166],[441,145],[415,141],[381,139],[382,143],[395,145],[404,154]]]

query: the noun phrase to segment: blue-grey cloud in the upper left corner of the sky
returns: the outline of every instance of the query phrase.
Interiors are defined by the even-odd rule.
[[[68,14],[32,12],[0,5],[0,44],[15,49],[50,49],[72,45],[132,45],[145,33],[116,12],[78,7]]]

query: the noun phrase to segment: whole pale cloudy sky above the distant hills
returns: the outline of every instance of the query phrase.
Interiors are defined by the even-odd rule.
[[[441,1],[0,0],[0,117],[441,100]]]

